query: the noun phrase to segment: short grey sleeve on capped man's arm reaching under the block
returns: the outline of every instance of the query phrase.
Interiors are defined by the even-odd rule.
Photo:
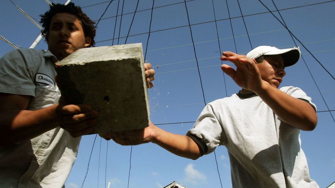
[[[186,135],[190,136],[201,147],[204,154],[212,153],[217,146],[224,145],[220,140],[226,140],[222,126],[210,104],[205,106],[194,127]],[[198,139],[194,139],[194,137]]]

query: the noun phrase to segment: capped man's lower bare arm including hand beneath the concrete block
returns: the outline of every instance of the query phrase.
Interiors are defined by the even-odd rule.
[[[181,157],[196,160],[202,156],[202,150],[189,136],[167,132],[151,122],[144,129],[110,132],[107,133],[107,136],[121,145],[138,145],[152,142]]]

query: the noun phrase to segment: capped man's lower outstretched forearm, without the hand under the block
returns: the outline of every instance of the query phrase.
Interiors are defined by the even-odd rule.
[[[158,127],[156,127],[156,133],[157,136],[151,142],[167,151],[193,160],[202,156],[202,151],[189,136],[173,134]]]

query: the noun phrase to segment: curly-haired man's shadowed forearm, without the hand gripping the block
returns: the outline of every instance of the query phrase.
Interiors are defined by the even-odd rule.
[[[2,111],[0,113],[0,145],[31,139],[59,126],[56,121],[57,106],[58,104],[55,104],[35,111]]]

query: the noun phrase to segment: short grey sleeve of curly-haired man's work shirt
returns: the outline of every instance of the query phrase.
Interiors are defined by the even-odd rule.
[[[36,57],[36,51],[29,49],[16,49],[1,57],[0,92],[35,97]]]

